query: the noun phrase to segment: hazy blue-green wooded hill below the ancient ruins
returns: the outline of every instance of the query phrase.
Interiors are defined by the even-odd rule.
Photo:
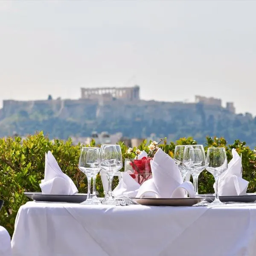
[[[96,99],[4,101],[0,109],[0,136],[34,134],[49,137],[90,136],[92,131],[122,132],[125,137],[159,137],[176,140],[192,136],[225,137],[229,143],[246,141],[256,146],[256,117],[235,114],[219,105],[144,100]]]

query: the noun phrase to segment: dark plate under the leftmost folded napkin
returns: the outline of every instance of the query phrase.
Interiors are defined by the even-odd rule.
[[[42,192],[24,192],[28,198],[35,201],[81,203],[86,200],[87,194],[75,195],[42,195]]]

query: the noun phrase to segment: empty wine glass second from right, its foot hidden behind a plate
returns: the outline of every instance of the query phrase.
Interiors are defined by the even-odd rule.
[[[198,195],[198,176],[205,169],[204,146],[186,145],[182,164],[186,169],[189,169],[193,178],[195,195]]]

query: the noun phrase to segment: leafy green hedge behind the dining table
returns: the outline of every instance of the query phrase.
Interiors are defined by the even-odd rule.
[[[148,142],[149,143],[149,142]],[[147,141],[140,146],[140,150],[148,151]],[[124,143],[119,143],[122,148],[123,159],[128,158],[127,147]],[[191,137],[181,138],[176,143],[160,145],[160,147],[170,156],[173,156],[175,145],[196,144]],[[90,146],[93,146],[92,141]],[[239,154],[242,153],[243,177],[249,180],[248,192],[256,191],[256,153],[245,145],[244,142],[236,140],[233,145],[227,145],[224,138],[207,137],[205,150],[208,146],[223,146],[227,149],[228,160],[232,158],[231,149],[236,148]],[[12,235],[14,231],[15,217],[21,205],[28,199],[23,195],[25,191],[41,191],[39,183],[44,178],[44,158],[45,152],[52,151],[59,166],[69,175],[79,192],[87,192],[87,180],[84,174],[78,169],[79,154],[81,145],[73,145],[71,140],[63,142],[61,140],[51,141],[44,137],[42,132],[29,136],[21,141],[20,137],[15,139],[0,139],[0,198],[5,201],[0,212],[0,224],[7,228]],[[213,192],[212,185],[214,179],[212,175],[204,171],[199,176],[199,192]],[[117,180],[114,180],[114,186]],[[103,188],[100,176],[96,180],[96,189],[99,196],[103,196]]]

